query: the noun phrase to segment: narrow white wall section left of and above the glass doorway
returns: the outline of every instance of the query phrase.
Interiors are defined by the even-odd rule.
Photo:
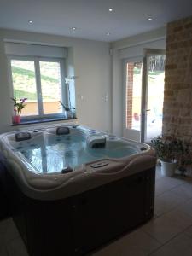
[[[139,34],[131,38],[125,38],[111,44],[113,51],[113,81],[112,81],[112,132],[115,135],[123,136],[123,115],[125,102],[123,94],[123,61],[125,59],[143,55],[143,49],[165,49],[166,48],[166,28]]]

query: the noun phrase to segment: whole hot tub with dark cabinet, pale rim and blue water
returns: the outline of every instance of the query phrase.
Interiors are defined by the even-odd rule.
[[[5,133],[5,189],[31,255],[84,255],[153,216],[153,150],[80,125]]]

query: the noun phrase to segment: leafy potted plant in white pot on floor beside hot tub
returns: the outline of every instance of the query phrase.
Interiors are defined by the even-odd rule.
[[[180,143],[175,137],[154,137],[151,146],[161,163],[161,174],[172,177],[177,166],[177,156],[181,150]]]

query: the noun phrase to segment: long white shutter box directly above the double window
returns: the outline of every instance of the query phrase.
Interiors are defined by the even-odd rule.
[[[38,44],[5,43],[7,55],[27,55],[52,58],[66,58],[67,48]]]

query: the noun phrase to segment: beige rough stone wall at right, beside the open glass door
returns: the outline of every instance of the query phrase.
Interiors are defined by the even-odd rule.
[[[163,135],[192,141],[192,17],[167,25]]]

